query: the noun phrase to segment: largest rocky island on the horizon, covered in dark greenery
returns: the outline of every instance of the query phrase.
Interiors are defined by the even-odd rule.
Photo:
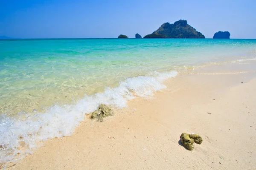
[[[189,26],[186,20],[179,20],[173,24],[163,23],[160,28],[144,38],[205,38],[201,32]]]

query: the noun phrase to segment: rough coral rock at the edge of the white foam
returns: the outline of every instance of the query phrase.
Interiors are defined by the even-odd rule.
[[[103,118],[106,116],[113,115],[113,111],[105,104],[99,105],[99,108],[92,113],[91,118],[98,118],[100,122],[103,121]]]

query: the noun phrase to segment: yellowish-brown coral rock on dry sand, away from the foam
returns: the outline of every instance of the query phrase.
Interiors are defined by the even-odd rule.
[[[201,144],[203,142],[203,139],[201,136],[196,134],[187,134],[182,133],[180,136],[181,143],[188,149],[193,150],[194,149],[194,143]]]

